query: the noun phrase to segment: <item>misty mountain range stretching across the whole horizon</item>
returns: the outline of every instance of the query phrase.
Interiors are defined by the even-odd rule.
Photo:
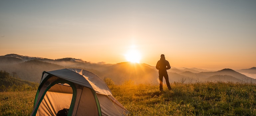
[[[7,54],[0,56],[0,70],[9,72],[13,77],[40,83],[43,71],[64,68],[78,68],[90,71],[101,79],[111,78],[115,84],[132,80],[135,84],[158,83],[158,70],[155,66],[140,63],[121,62],[117,64],[90,63],[81,59],[62,58],[47,59],[39,57]],[[198,68],[176,68],[168,70],[170,82],[238,82],[255,83],[256,79],[241,73],[256,74],[256,67],[250,69],[223,69],[210,71]]]

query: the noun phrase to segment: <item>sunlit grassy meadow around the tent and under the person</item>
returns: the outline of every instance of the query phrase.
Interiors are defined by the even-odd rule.
[[[113,96],[129,111],[128,116],[253,116],[256,85],[224,82],[171,83],[164,85],[110,84]],[[0,92],[1,116],[29,116],[36,90]]]

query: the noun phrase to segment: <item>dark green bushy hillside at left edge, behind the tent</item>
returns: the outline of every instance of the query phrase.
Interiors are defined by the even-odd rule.
[[[0,71],[0,91],[36,90],[38,86],[38,83],[21,80],[11,76],[8,72]]]

